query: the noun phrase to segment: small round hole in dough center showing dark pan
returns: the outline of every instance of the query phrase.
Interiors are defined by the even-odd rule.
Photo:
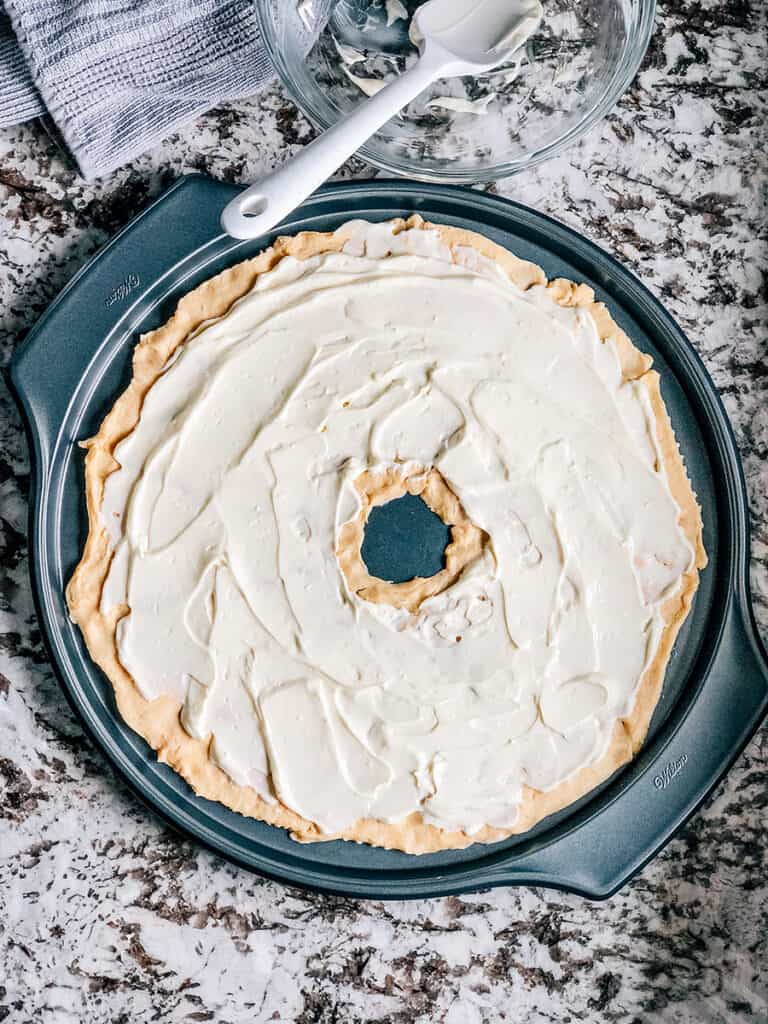
[[[407,494],[371,509],[360,555],[372,577],[408,583],[440,572],[450,543],[451,527],[421,498]]]

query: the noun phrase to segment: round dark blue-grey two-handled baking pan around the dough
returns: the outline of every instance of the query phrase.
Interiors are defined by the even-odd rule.
[[[183,178],[75,278],[17,353],[11,381],[33,461],[32,574],[61,685],[94,742],[151,807],[186,836],[279,879],[349,896],[408,898],[488,886],[552,886],[600,898],[637,871],[706,798],[757,728],[768,663],[750,605],[749,513],[723,407],[680,329],[610,256],[525,207],[467,189],[403,181],[333,184],[281,225],[328,230],[350,217],[421,213],[481,231],[549,276],[585,281],[662,372],[664,395],[703,509],[710,557],[640,755],[599,790],[532,831],[495,846],[422,857],[351,843],[301,846],[282,829],[195,797],[116,713],[65,605],[85,536],[83,460],[130,376],[140,332],[177,300],[270,239],[234,242],[219,214],[237,189]],[[275,232],[276,233],[276,232]]]

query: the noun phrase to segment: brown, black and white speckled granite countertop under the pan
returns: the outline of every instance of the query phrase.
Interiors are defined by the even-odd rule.
[[[617,256],[703,357],[743,459],[764,638],[767,12],[759,0],[666,0],[616,110],[493,188]],[[0,132],[2,362],[177,175],[245,182],[311,135],[273,86],[86,184],[44,123]],[[40,640],[27,446],[2,388],[0,403],[0,1021],[768,1022],[766,726],[603,903],[544,889],[381,903],[262,881],[179,841],[83,736]]]

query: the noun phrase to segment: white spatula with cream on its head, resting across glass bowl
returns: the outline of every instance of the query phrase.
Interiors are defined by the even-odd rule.
[[[539,26],[540,0],[429,0],[414,15],[419,60],[283,167],[224,207],[236,239],[265,234],[391,117],[438,78],[477,75],[507,60]]]

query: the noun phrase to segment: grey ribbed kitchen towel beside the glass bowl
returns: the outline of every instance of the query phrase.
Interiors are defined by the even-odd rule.
[[[87,179],[271,76],[253,0],[0,0],[0,127],[47,112]]]

